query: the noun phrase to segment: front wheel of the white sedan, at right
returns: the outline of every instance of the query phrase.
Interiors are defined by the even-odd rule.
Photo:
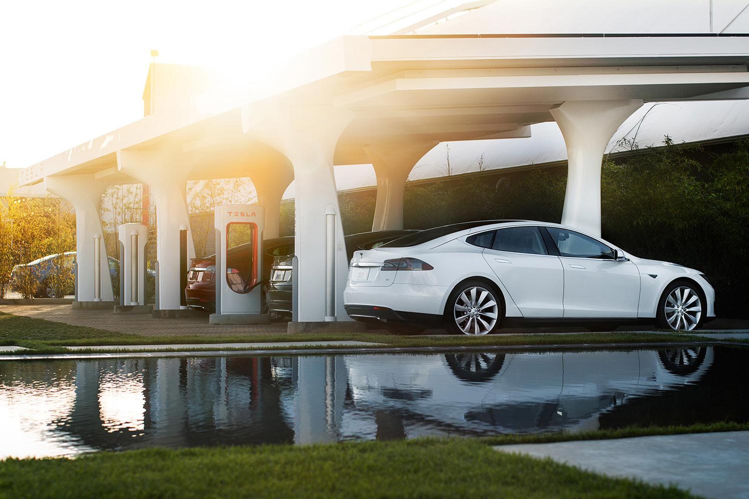
[[[689,281],[673,281],[658,301],[657,325],[671,331],[694,331],[705,322],[703,291]]]

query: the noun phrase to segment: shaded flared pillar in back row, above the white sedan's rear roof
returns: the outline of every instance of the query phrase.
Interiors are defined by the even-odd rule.
[[[403,228],[403,192],[408,174],[437,141],[369,144],[364,148],[377,175],[377,204],[372,230]]]

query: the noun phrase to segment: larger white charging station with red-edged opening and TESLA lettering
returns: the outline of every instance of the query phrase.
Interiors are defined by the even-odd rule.
[[[265,324],[262,313],[264,209],[254,204],[216,206],[216,313],[210,324]]]

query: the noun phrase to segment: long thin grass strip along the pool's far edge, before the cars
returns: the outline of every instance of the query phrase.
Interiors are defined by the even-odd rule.
[[[38,353],[65,352],[63,346],[94,345],[163,345],[175,343],[243,343],[243,342],[313,342],[323,340],[359,340],[384,343],[387,346],[523,346],[523,345],[607,345],[611,343],[671,343],[683,341],[704,341],[691,334],[656,332],[634,333],[620,331],[592,334],[492,334],[483,337],[455,336],[394,336],[392,334],[349,333],[349,334],[261,334],[223,336],[141,336],[138,334],[115,333],[79,325],[68,325],[45,319],[34,319],[0,312],[0,345],[17,345],[33,349]],[[737,340],[736,343],[745,343]],[[295,347],[298,348],[298,347]],[[310,348],[315,348],[314,346]],[[115,351],[115,350],[112,350]]]

